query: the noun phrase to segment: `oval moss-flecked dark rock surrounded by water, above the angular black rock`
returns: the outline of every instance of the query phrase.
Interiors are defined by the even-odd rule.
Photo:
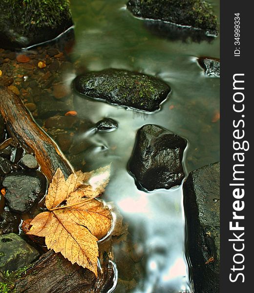
[[[160,108],[170,87],[163,81],[121,69],[91,71],[74,80],[74,88],[88,97],[148,112]]]

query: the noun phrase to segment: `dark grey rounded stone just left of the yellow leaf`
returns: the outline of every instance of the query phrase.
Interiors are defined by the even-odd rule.
[[[2,186],[7,206],[24,213],[45,194],[46,178],[39,171],[15,171],[4,178]]]

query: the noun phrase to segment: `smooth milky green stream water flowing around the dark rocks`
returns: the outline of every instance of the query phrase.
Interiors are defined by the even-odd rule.
[[[92,101],[75,94],[74,110],[94,124],[108,117],[116,131],[93,129],[79,135],[89,147],[79,154],[85,170],[112,163],[104,200],[118,207],[128,235],[114,243],[119,271],[116,293],[192,292],[186,251],[182,186],[171,190],[139,190],[127,171],[137,130],[145,124],[163,126],[188,140],[186,175],[219,160],[219,79],[204,76],[197,57],[219,58],[219,38],[191,42],[163,38],[125,8],[126,0],[72,0],[76,44],[72,62],[84,70],[123,68],[161,78],[172,93],[160,111],[144,114]],[[219,1],[212,5],[219,16]],[[75,78],[64,73],[65,82]],[[71,162],[75,167],[75,162]],[[77,168],[77,167],[76,167]],[[122,241],[120,241],[122,240]]]

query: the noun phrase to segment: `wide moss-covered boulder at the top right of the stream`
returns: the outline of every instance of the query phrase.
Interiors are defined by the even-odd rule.
[[[137,17],[168,21],[217,33],[212,6],[202,0],[129,0],[127,8]]]

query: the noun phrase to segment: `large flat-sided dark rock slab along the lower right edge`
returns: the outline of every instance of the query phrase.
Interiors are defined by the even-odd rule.
[[[201,167],[190,173],[184,184],[184,207],[195,292],[219,292],[219,199],[219,163]],[[210,262],[207,263],[209,259]]]

